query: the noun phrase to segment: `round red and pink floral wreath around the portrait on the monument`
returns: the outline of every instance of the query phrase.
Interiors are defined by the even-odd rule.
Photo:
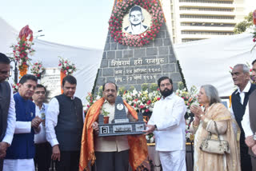
[[[142,34],[132,35],[122,32],[123,17],[132,6],[141,6],[150,13],[150,28]],[[114,6],[109,21],[109,30],[115,42],[126,46],[143,46],[154,40],[164,20],[162,6],[158,0],[123,0]]]

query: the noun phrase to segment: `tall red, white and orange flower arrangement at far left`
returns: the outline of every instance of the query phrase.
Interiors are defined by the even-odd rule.
[[[20,71],[20,77],[22,78],[23,75],[26,74],[28,68],[28,62],[30,62],[29,55],[34,54],[34,50],[31,46],[34,45],[33,43],[33,31],[30,30],[29,26],[25,26],[19,32],[18,35],[18,45],[10,46],[13,48],[13,54],[15,61],[18,62],[18,70]]]

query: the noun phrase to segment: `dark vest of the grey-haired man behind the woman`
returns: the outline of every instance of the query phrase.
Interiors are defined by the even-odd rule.
[[[238,89],[235,90],[234,93],[232,93],[232,96],[231,96],[232,109],[233,109],[233,112],[234,112],[234,117],[235,117],[235,120],[238,122],[238,125],[241,129],[240,145],[246,145],[245,144],[245,132],[242,129],[241,121],[242,121],[242,117],[243,117],[243,115],[245,114],[245,111],[246,111],[246,105],[248,103],[250,93],[252,93],[254,91],[254,89],[256,89],[256,85],[252,84],[250,86],[249,91],[245,95],[243,105],[241,104],[240,98],[238,97],[239,96],[239,94],[237,93]]]

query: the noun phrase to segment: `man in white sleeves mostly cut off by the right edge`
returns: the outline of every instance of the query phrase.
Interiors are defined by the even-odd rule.
[[[253,80],[256,79],[256,60],[253,65]],[[242,117],[242,129],[245,132],[246,145],[249,147],[249,154],[252,163],[252,170],[256,170],[256,90],[250,94],[245,114]]]

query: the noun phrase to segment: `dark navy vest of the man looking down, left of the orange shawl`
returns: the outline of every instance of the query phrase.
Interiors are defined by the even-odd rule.
[[[55,133],[61,151],[79,151],[82,138],[82,101],[78,97],[71,100],[62,94],[56,96],[59,104],[58,124]]]

